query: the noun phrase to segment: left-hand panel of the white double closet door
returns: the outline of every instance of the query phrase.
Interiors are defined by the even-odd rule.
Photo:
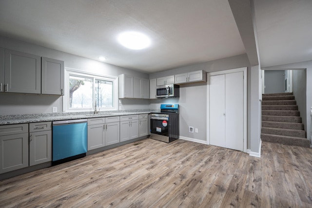
[[[225,75],[210,76],[210,144],[225,147]]]

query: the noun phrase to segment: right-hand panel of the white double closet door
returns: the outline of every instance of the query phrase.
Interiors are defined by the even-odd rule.
[[[225,75],[225,147],[244,150],[244,73]]]

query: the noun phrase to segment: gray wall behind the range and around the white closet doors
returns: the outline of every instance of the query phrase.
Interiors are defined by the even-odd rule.
[[[247,148],[250,149],[250,64],[246,54],[235,57],[222,58],[205,63],[180,67],[164,72],[150,74],[150,79],[176,75],[186,72],[204,70],[206,72],[216,72],[240,67],[248,67],[247,72]],[[178,103],[180,105],[180,136],[198,140],[207,140],[207,83],[189,83],[180,85],[179,98],[164,98],[151,100],[150,107],[159,109],[160,103]],[[198,129],[198,133],[190,133],[189,126]]]

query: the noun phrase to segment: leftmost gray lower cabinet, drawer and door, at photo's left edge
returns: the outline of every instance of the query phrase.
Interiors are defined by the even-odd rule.
[[[0,126],[0,173],[28,167],[28,124]]]

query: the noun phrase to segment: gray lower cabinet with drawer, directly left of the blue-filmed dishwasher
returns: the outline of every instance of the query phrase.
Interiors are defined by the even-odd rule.
[[[52,161],[52,122],[29,124],[29,166]]]

